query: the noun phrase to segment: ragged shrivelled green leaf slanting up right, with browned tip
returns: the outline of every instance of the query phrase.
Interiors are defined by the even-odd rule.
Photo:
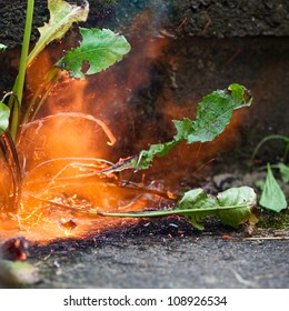
[[[193,143],[213,140],[228,126],[233,110],[248,107],[251,102],[252,98],[249,91],[240,84],[231,84],[226,91],[218,90],[212,92],[198,104],[195,121],[188,118],[181,121],[175,120],[173,124],[177,129],[177,134],[172,141],[151,144],[148,150],[142,150],[137,161],[134,158],[132,159],[131,168],[148,169],[155,157],[166,156],[181,141]]]

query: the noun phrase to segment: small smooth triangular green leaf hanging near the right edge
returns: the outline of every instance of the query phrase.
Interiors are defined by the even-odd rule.
[[[260,198],[260,205],[267,210],[280,212],[287,209],[287,201],[280,185],[276,181],[270,164],[267,164],[267,178]]]

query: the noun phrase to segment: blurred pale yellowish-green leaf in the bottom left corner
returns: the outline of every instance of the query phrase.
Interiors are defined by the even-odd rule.
[[[0,260],[0,288],[17,288],[40,282],[38,269],[26,261]]]

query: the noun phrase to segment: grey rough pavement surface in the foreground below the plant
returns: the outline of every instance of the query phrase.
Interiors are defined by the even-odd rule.
[[[177,218],[141,221],[84,240],[33,245],[32,261],[42,258],[42,280],[33,288],[289,288],[288,237],[270,234],[248,237],[218,225],[200,233]]]

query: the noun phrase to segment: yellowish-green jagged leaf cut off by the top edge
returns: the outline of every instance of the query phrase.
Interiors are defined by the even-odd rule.
[[[89,12],[89,2],[83,1],[81,7],[70,4],[63,0],[48,0],[50,20],[38,30],[40,38],[28,57],[28,64],[53,40],[61,39],[73,22],[86,21]]]

